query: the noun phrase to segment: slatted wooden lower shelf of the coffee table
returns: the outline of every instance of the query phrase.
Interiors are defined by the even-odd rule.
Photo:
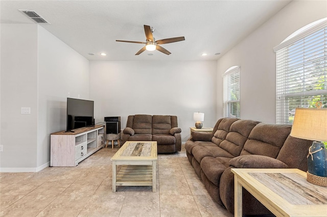
[[[116,186],[152,186],[152,165],[123,165]]]

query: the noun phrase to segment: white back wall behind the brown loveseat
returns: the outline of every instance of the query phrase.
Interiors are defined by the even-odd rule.
[[[216,123],[216,61],[90,61],[90,98],[96,122],[128,115],[176,115],[182,140],[194,127],[194,112],[205,114],[203,127]]]

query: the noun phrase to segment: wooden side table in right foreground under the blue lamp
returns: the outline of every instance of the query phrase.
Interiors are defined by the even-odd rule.
[[[276,216],[326,216],[327,188],[307,181],[298,169],[231,169],[235,216],[242,216],[242,187]]]

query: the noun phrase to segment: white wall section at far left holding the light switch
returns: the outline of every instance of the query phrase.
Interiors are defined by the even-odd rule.
[[[36,166],[37,26],[1,24],[1,168]],[[30,107],[30,115],[21,115]]]

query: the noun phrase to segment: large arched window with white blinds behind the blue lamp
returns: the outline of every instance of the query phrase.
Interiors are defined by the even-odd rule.
[[[292,124],[295,108],[327,107],[327,18],[299,29],[276,52],[276,123]]]

